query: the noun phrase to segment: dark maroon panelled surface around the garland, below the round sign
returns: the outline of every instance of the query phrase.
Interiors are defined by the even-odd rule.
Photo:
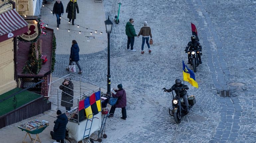
[[[52,51],[53,51],[53,34],[54,31],[51,28],[43,29],[46,35],[41,35],[39,40],[42,40],[42,55],[47,55],[47,62],[42,64],[42,68],[38,74],[24,74],[22,73],[22,67],[29,57],[30,42],[19,42],[17,50],[17,73],[18,77],[45,77],[51,73],[52,64]]]

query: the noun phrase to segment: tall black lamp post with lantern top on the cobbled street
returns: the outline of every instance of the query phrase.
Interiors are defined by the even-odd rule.
[[[112,31],[112,25],[113,23],[111,22],[111,20],[109,19],[109,16],[108,16],[108,19],[105,22],[105,25],[106,25],[106,32],[108,34],[108,74],[107,74],[107,94],[108,95],[111,95],[111,92],[110,92],[110,43],[109,43],[109,40],[110,40],[110,33]]]

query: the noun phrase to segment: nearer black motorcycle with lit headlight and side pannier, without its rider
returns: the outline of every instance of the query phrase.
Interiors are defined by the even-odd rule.
[[[166,88],[163,88],[163,89],[166,89]],[[183,87],[178,89],[185,90],[183,89]],[[171,116],[174,116],[174,120],[176,123],[180,124],[182,117],[188,114],[187,107],[184,99],[180,97],[180,94],[174,97],[173,90],[172,90],[172,95],[173,95],[173,99],[172,99],[173,109],[169,108],[169,114]],[[191,109],[196,103],[195,96],[194,95],[188,96],[188,101],[189,101],[189,109]]]

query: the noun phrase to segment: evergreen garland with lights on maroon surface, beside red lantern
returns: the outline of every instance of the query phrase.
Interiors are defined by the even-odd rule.
[[[37,50],[40,51],[39,42],[31,43],[29,47],[29,59],[26,61],[25,65],[22,67],[22,70],[23,70],[22,73],[38,74],[42,68],[41,53],[40,52],[38,53],[38,59],[37,59],[36,44],[37,44]]]

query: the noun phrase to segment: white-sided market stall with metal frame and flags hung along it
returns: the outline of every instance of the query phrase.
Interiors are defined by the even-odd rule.
[[[105,102],[107,102],[107,100],[103,100],[101,98],[101,91],[99,86],[96,86],[90,82],[86,85],[84,82],[88,81],[73,74],[68,74],[63,78],[60,78],[49,84],[52,86],[52,88],[58,89],[57,110],[65,110],[65,107],[62,107],[59,104],[63,101],[61,100],[62,94],[59,94],[59,92],[63,91],[60,90],[58,86],[62,85],[62,81],[64,81],[64,79],[70,77],[71,79],[79,79],[79,82],[72,80],[74,85],[74,96],[72,99],[73,106],[70,111],[66,112],[66,116],[68,118],[68,123],[66,125],[68,130],[68,137],[76,140],[77,142],[83,140],[84,138],[87,138],[88,142],[93,142],[90,140],[90,135],[96,131],[99,132],[102,128],[101,103],[104,103],[103,106],[105,106]]]

